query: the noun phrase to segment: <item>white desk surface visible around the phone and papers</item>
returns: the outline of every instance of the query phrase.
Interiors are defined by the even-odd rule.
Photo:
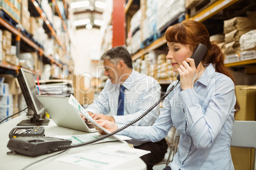
[[[15,117],[14,119],[11,119],[8,122],[4,122],[0,124],[0,134],[1,134],[1,141],[0,141],[0,169],[22,169],[25,166],[31,164],[32,162],[36,162],[37,160],[43,159],[44,157],[48,157],[49,155],[57,154],[58,152],[53,152],[52,154],[48,155],[41,155],[39,157],[28,157],[25,155],[7,155],[7,152],[10,152],[10,150],[6,147],[7,143],[9,141],[8,134],[10,133],[11,129],[17,127],[18,122],[27,119],[26,115],[20,115],[18,117]],[[45,136],[60,136],[60,135],[74,135],[74,134],[85,134],[85,132],[82,131],[76,131],[73,129],[68,128],[62,128],[59,126],[56,126],[55,123],[51,120],[48,126],[45,126]],[[75,166],[72,164],[59,162],[55,159],[59,157],[65,157],[67,155],[76,154],[78,152],[84,152],[85,150],[90,150],[93,148],[99,148],[108,145],[116,145],[116,146],[123,146],[123,147],[129,147],[125,143],[121,143],[120,141],[111,141],[106,143],[99,143],[95,145],[85,145],[83,147],[78,148],[71,148],[68,150],[68,152],[64,152],[63,154],[50,157],[48,159],[45,159],[43,161],[40,161],[36,164],[33,164],[32,166],[27,167],[26,170],[29,169],[85,169],[85,167],[81,166]],[[87,170],[90,170],[86,168]],[[140,158],[136,158],[134,160],[131,160],[129,162],[126,162],[125,164],[122,164],[120,166],[116,166],[115,169],[132,169],[132,170],[141,170],[146,169],[146,164],[141,160]]]

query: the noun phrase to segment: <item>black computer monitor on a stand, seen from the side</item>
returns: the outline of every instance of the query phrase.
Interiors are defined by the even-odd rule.
[[[45,108],[41,105],[36,95],[39,95],[36,82],[31,71],[26,69],[18,70],[18,84],[27,103],[28,115],[32,115],[31,119],[24,120],[17,126],[46,126],[49,123],[48,119],[41,119],[45,114]]]

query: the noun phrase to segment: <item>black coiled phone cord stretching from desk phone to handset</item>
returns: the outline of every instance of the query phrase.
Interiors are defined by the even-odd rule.
[[[122,128],[119,128],[119,129],[113,131],[112,133],[105,134],[104,136],[101,136],[101,137],[97,138],[96,140],[91,140],[91,141],[87,141],[87,142],[84,142],[84,143],[78,143],[78,144],[74,144],[74,145],[60,145],[58,147],[59,150],[64,150],[64,149],[67,149],[67,148],[75,148],[75,147],[82,147],[84,145],[89,145],[89,144],[94,143],[96,141],[104,140],[105,138],[113,136],[114,134],[124,130],[125,128],[128,128],[129,126],[131,126],[135,122],[138,122],[140,119],[142,119],[151,110],[153,110],[153,108],[157,107],[157,105],[159,105],[160,101],[164,100],[164,98],[166,98],[166,96],[169,95],[169,93],[171,93],[171,91],[173,91],[173,89],[179,84],[179,82],[180,81],[178,81],[176,85],[173,85],[168,91],[166,91],[166,93],[164,93],[164,95],[157,102],[155,102],[155,104],[153,104],[152,107],[148,108],[148,110],[146,110],[138,118],[134,119],[133,121],[129,122],[128,124],[125,124],[125,126],[122,126]]]

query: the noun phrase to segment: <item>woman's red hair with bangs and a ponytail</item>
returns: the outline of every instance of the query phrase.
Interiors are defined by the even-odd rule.
[[[231,70],[224,65],[224,54],[217,44],[211,43],[210,34],[203,23],[199,23],[193,20],[184,20],[181,23],[176,23],[166,30],[165,33],[167,42],[179,42],[181,44],[189,44],[191,51],[198,44],[204,44],[208,48],[206,55],[202,60],[202,63],[215,64],[215,70],[222,74],[227,75],[234,82],[234,77]],[[239,105],[236,101],[235,108],[238,110]]]

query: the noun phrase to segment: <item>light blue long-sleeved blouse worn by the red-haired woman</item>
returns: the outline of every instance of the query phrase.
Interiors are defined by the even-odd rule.
[[[234,169],[230,144],[235,103],[234,83],[210,64],[193,89],[182,91],[180,84],[174,88],[153,126],[130,126],[118,134],[159,141],[175,126],[181,136],[178,152],[169,164],[172,170]],[[118,124],[118,128],[122,126]]]

